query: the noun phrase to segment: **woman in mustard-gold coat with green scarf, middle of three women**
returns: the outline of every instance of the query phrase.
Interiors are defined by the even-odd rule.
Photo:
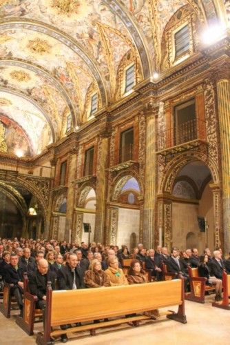
[[[105,274],[109,278],[110,286],[128,285],[123,270],[118,267],[118,259],[116,257],[109,257],[108,265],[109,268],[105,270]]]

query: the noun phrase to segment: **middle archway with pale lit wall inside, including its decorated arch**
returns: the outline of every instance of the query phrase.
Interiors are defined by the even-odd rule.
[[[140,236],[140,185],[135,177],[118,179],[110,205],[111,244],[132,249]]]

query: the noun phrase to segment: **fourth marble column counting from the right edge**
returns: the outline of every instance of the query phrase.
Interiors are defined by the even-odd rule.
[[[76,179],[76,151],[70,152],[69,170],[68,170],[68,189],[67,189],[67,210],[65,221],[65,241],[69,242],[70,229],[73,226],[73,211],[74,211],[74,184],[72,181]],[[73,231],[72,231],[73,233]]]

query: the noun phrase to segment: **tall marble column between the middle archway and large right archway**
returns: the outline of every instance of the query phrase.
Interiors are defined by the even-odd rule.
[[[145,147],[145,192],[143,206],[143,245],[154,246],[154,205],[156,197],[156,114],[158,107],[150,100],[145,108],[146,147]]]

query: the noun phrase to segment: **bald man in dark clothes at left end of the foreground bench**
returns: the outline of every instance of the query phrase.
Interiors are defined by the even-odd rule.
[[[37,265],[37,269],[29,275],[29,290],[32,295],[38,297],[36,302],[37,308],[43,311],[43,325],[45,325],[45,301],[46,301],[46,289],[47,283],[51,282],[52,290],[55,290],[55,278],[56,274],[51,270],[48,270],[48,262],[45,259],[40,259]]]

